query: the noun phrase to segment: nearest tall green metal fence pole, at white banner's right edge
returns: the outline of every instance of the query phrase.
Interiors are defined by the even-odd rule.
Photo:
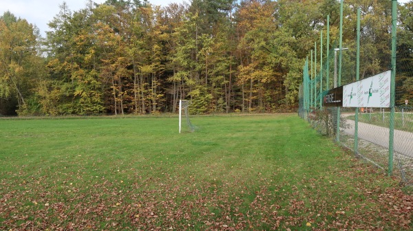
[[[390,126],[389,126],[389,175],[393,173],[394,152],[394,106],[396,96],[396,28],[397,28],[397,0],[392,0],[392,76],[390,79]]]

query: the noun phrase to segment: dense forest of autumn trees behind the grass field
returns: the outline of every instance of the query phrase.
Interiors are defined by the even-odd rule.
[[[388,0],[345,1],[343,41],[355,8],[373,19],[371,54],[389,47]],[[399,6],[398,46],[413,64],[413,1]],[[43,38],[35,25],[0,17],[0,115],[276,112],[297,109],[302,67],[319,32],[339,30],[336,0],[139,0],[66,3]],[[375,17],[375,18],[374,18]],[[407,47],[407,49],[406,49]],[[369,53],[370,54],[370,53]],[[372,57],[374,60],[374,57]],[[411,71],[411,69],[410,69]],[[412,78],[403,78],[408,86]],[[413,96],[413,89],[406,89]]]

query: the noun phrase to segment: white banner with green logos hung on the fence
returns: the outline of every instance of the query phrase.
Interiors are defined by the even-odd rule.
[[[343,86],[343,107],[390,107],[391,71]]]

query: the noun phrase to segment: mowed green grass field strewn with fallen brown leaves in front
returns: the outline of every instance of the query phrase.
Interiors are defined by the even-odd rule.
[[[409,230],[412,196],[289,115],[0,120],[0,230]]]

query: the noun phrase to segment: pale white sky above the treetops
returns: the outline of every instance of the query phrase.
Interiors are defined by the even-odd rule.
[[[45,36],[45,31],[50,30],[47,23],[59,14],[59,5],[66,1],[69,9],[74,12],[86,8],[87,0],[1,0],[0,15],[10,10],[12,14],[28,23],[35,24]],[[106,0],[93,0],[95,3],[104,3]],[[168,5],[169,3],[182,3],[184,0],[149,0],[153,5]]]

